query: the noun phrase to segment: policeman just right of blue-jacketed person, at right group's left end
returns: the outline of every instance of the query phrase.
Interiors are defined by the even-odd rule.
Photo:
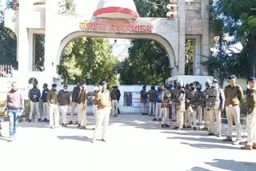
[[[162,128],[170,127],[167,125],[167,119],[170,112],[170,105],[171,105],[171,93],[170,93],[170,85],[166,85],[166,89],[162,91]]]

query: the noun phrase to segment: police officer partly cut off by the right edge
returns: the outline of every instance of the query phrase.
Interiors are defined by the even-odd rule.
[[[246,107],[248,115],[246,117],[247,143],[241,149],[256,149],[256,78],[248,79],[250,89],[247,93]]]

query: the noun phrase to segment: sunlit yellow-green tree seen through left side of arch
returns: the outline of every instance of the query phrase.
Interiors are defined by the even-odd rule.
[[[76,38],[64,50],[60,74],[68,84],[86,80],[86,84],[94,85],[106,80],[114,85],[117,65],[106,38]]]

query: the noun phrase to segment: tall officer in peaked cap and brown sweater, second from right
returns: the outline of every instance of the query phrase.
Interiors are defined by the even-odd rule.
[[[237,139],[232,144],[238,145],[241,141],[241,123],[240,123],[240,103],[243,100],[242,88],[235,83],[236,76],[230,75],[230,85],[224,89],[226,98],[226,117],[228,122],[228,134],[223,141],[232,141],[233,117],[237,127]]]

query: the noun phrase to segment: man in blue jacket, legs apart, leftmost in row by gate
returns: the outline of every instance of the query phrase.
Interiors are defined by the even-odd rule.
[[[39,99],[41,97],[41,92],[40,92],[40,89],[37,88],[37,84],[34,84],[33,89],[30,89],[29,97],[30,97],[29,122],[32,121],[32,114],[33,114],[34,107],[37,111],[38,121],[42,121],[41,115],[40,115],[40,112],[39,112]]]

